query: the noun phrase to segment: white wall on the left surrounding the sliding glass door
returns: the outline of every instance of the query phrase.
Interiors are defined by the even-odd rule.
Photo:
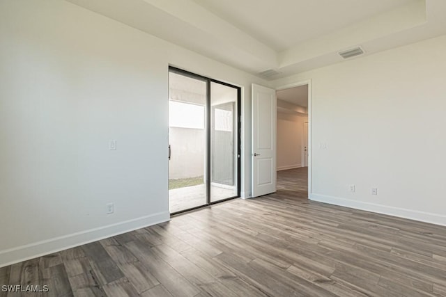
[[[0,1],[0,266],[169,219],[169,63],[243,87],[250,121],[261,79],[65,1]]]

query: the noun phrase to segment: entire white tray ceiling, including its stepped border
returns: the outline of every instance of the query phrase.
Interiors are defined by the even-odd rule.
[[[268,80],[446,34],[445,0],[66,1]]]

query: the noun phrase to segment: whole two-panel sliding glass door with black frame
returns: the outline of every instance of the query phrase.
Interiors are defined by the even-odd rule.
[[[169,211],[240,197],[240,95],[169,67]]]

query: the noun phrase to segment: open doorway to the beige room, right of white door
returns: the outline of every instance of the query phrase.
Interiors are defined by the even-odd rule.
[[[309,83],[276,91],[277,191],[290,198],[308,198]]]

